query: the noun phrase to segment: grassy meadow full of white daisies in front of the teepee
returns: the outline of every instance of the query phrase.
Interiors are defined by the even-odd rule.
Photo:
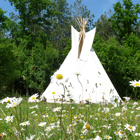
[[[138,140],[140,101],[119,104],[47,103],[38,94],[0,102],[2,140]]]

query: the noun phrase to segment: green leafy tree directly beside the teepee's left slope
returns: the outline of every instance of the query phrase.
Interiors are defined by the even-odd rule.
[[[23,89],[16,89],[21,90],[21,94],[25,91],[26,96],[35,92],[41,93],[49,84],[54,70],[58,68],[58,51],[49,41],[46,41],[46,48],[38,41],[31,50],[27,49],[28,40],[22,39],[20,42],[18,59],[22,69],[20,82],[17,84]]]

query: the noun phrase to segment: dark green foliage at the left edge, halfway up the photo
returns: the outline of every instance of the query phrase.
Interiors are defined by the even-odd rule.
[[[17,48],[8,40],[0,43],[0,94],[7,93],[14,87],[14,80],[20,77],[20,63]],[[11,90],[10,90],[11,91]]]

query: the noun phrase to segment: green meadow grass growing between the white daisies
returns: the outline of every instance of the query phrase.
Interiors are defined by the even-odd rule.
[[[68,140],[77,140],[77,139],[92,139],[97,135],[102,139],[105,135],[109,135],[113,140],[125,139],[129,140],[138,140],[140,136],[135,136],[135,133],[140,133],[140,110],[136,108],[138,105],[133,108],[133,101],[130,101],[126,106],[127,110],[122,112],[123,105],[119,107],[112,108],[113,105],[99,105],[99,104],[56,104],[56,103],[28,103],[26,99],[23,99],[22,102],[14,108],[6,108],[6,104],[0,104],[0,133],[5,132],[7,135],[3,136],[2,140],[13,140],[19,139],[24,140],[26,137],[29,138],[31,135],[36,135],[34,140],[59,140],[59,139],[68,139]],[[29,107],[35,106],[38,104],[38,109],[30,109]],[[56,107],[62,107],[59,112],[53,112],[52,110]],[[109,112],[103,112],[104,108],[109,108]],[[98,109],[100,108],[100,111]],[[33,111],[36,113],[31,114]],[[131,111],[134,111],[132,113]],[[115,116],[115,113],[120,112],[120,116]],[[37,114],[37,115],[35,115]],[[4,120],[6,116],[14,116],[13,122],[8,122]],[[42,115],[48,115],[44,118]],[[21,126],[20,123],[29,121],[29,126]],[[46,122],[44,127],[38,126],[40,122]],[[57,126],[57,122],[60,125]],[[83,128],[85,124],[90,127]],[[121,125],[119,126],[118,123]],[[49,132],[44,131],[48,126],[52,124],[52,129]],[[136,126],[136,130],[130,132],[125,128],[124,125],[130,124]],[[55,126],[53,128],[53,125]],[[111,126],[109,129],[103,127],[103,125]],[[56,127],[57,126],[57,127]],[[70,133],[67,133],[69,127]],[[25,130],[21,130],[24,128]],[[17,130],[20,135],[15,135],[15,130]],[[83,134],[84,131],[87,131]],[[114,132],[122,130],[125,135],[123,138],[116,136]],[[95,132],[97,131],[97,132]],[[94,133],[95,132],[95,133]],[[47,134],[47,135],[46,135]],[[50,137],[48,137],[50,136]]]

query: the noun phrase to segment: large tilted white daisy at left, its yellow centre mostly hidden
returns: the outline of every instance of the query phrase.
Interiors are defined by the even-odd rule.
[[[16,107],[20,104],[20,102],[22,101],[22,98],[12,98],[10,100],[10,103],[7,103],[6,105],[6,108],[9,108],[9,107]]]

